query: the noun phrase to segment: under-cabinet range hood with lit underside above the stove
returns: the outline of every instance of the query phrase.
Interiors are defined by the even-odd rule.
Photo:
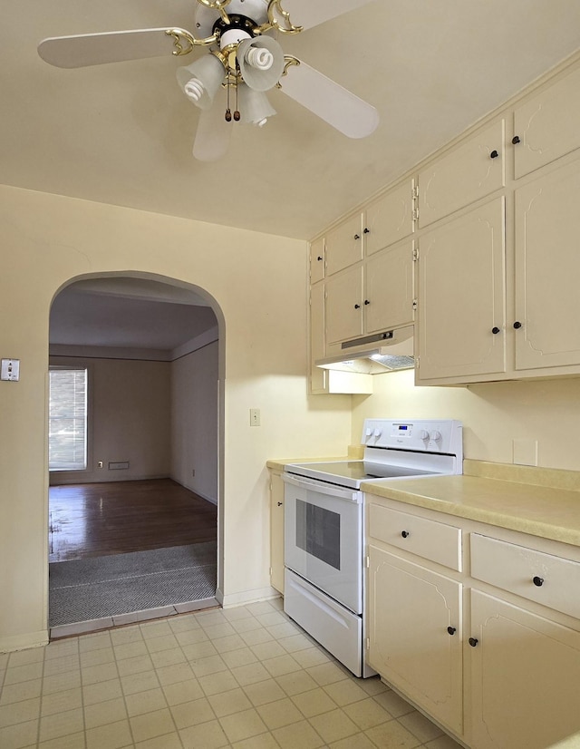
[[[341,352],[314,362],[323,369],[381,375],[398,369],[412,369],[413,326],[386,330],[373,336],[343,341]]]

